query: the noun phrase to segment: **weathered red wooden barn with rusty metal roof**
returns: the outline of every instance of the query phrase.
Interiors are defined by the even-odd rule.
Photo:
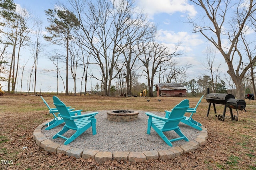
[[[157,83],[157,97],[187,97],[187,90],[180,83]]]

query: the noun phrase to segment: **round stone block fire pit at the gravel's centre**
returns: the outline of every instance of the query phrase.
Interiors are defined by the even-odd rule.
[[[113,122],[131,122],[138,120],[138,111],[128,111],[128,110],[116,110],[107,111],[107,118],[109,121]]]

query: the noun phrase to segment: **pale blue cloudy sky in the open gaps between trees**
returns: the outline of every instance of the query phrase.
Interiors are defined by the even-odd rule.
[[[42,18],[43,29],[45,26],[48,26],[44,10],[47,10],[48,8],[53,9],[54,2],[55,1],[52,0],[14,0],[14,3],[16,3],[18,6],[25,7],[32,12],[32,14]],[[185,23],[187,22],[186,13],[190,14],[191,16],[196,16],[198,14],[198,11],[196,11],[194,6],[188,4],[188,0],[136,0],[136,3],[138,4],[138,8],[143,10],[144,13],[148,15],[150,21],[157,25],[159,35],[157,40],[159,42],[165,43],[170,47],[181,43],[180,49],[185,51],[185,53],[175,60],[178,65],[184,65],[186,63],[192,64],[192,67],[187,71],[187,81],[192,78],[196,79],[196,77],[202,75],[202,73],[205,73],[204,69],[202,68],[202,62],[205,61],[204,51],[206,46],[210,45],[210,43],[208,43],[206,39],[199,33],[193,33],[193,27],[191,24]],[[49,49],[50,48],[47,47],[44,52],[47,53],[47,50]],[[45,55],[45,53],[42,55]],[[216,63],[216,65],[224,62],[222,56],[217,57],[218,63]],[[46,56],[42,56],[39,63],[38,72],[41,74],[40,80],[37,79],[37,85],[39,86],[37,87],[37,91],[40,91],[40,88],[42,91],[56,91],[56,85],[54,84],[55,73],[46,73],[44,71],[45,69],[50,70],[51,67],[54,69],[54,65],[51,63],[51,61],[49,61],[49,59],[47,59]],[[226,73],[225,67],[226,65],[223,63],[221,67],[221,71],[223,73]],[[51,81],[52,83],[45,83],[49,79],[53,79],[53,81]],[[89,80],[88,84],[89,86],[94,86],[96,81]],[[22,91],[26,91],[26,85],[23,86],[24,89],[22,89]],[[60,87],[62,87],[62,84]],[[18,89],[19,88],[20,87],[18,87]],[[70,83],[69,89],[72,88],[73,87],[71,87]],[[88,90],[89,88],[90,87],[88,87]],[[64,91],[64,89],[61,89],[60,91]],[[78,88],[78,91],[80,91],[80,87]]]

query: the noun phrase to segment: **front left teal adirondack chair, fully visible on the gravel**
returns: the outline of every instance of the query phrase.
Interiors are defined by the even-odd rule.
[[[69,144],[90,127],[92,127],[92,135],[96,134],[96,119],[94,116],[98,114],[98,112],[72,116],[72,113],[75,113],[76,111],[68,111],[66,105],[62,101],[60,101],[58,97],[53,96],[53,103],[58,109],[60,117],[62,117],[62,119],[66,123],[62,130],[60,130],[60,132],[52,137],[53,139],[58,137],[64,138],[66,139],[64,144]],[[70,129],[75,130],[76,132],[69,138],[67,138],[66,136],[62,136],[62,134]]]

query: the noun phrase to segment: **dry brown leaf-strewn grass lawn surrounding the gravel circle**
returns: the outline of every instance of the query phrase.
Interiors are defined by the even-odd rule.
[[[161,112],[172,109],[184,99],[161,98],[162,101],[158,102],[156,97],[59,96],[59,98],[66,105],[84,111],[135,109]],[[190,107],[194,107],[199,98],[188,98]],[[51,96],[44,96],[44,99],[54,107]],[[150,99],[150,102],[146,99]],[[238,111],[237,122],[231,121],[230,118],[222,122],[218,121],[214,114],[206,117],[208,103],[203,99],[193,118],[208,129],[209,138],[204,146],[192,153],[182,154],[166,161],[97,163],[94,160],[49,153],[37,146],[32,134],[38,125],[52,119],[48,109],[38,96],[5,94],[0,97],[0,169],[256,170],[256,101],[246,99],[246,105],[247,112]],[[217,112],[222,114],[223,108],[223,105],[218,105]],[[236,115],[235,110],[233,113]],[[229,115],[227,109],[226,116]]]

